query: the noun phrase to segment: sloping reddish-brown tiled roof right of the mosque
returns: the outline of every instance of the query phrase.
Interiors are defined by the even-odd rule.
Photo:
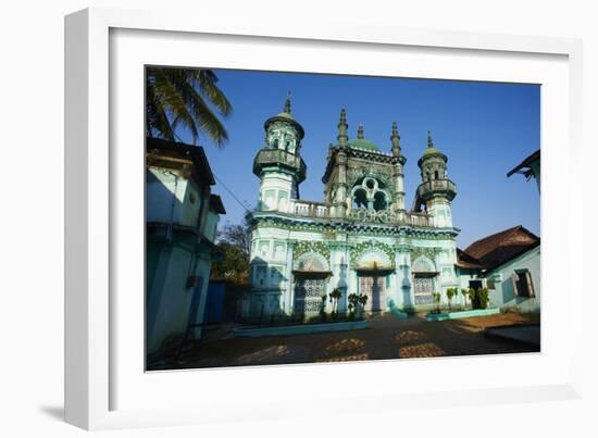
[[[486,270],[493,270],[539,243],[538,236],[518,225],[473,242],[465,248],[464,254],[459,254],[459,262],[477,263]]]

